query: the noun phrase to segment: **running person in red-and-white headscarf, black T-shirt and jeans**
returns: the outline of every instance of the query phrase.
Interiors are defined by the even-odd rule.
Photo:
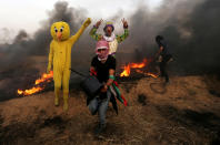
[[[98,41],[96,48],[97,55],[92,59],[90,72],[97,75],[103,87],[98,96],[89,102],[89,110],[94,115],[99,114],[99,126],[96,128],[96,134],[101,133],[106,127],[106,113],[111,97],[109,86],[114,80],[116,59],[109,54],[109,43],[107,41]]]

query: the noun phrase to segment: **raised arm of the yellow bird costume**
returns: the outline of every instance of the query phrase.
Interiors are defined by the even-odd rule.
[[[80,35],[83,33],[84,29],[86,29],[90,23],[91,23],[91,19],[88,18],[88,19],[84,21],[84,23],[81,25],[81,28],[78,30],[78,32],[77,32],[74,35],[72,35],[72,37],[70,38],[71,44],[74,44],[74,42],[80,38]]]

